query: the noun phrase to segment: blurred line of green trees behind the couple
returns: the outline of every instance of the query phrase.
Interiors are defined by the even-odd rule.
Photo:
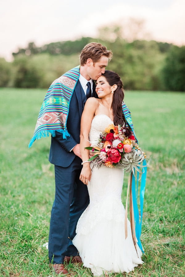
[[[83,47],[97,39],[83,37],[75,41],[51,42],[12,53],[14,60],[0,58],[0,86],[48,88],[56,78],[79,64]],[[107,69],[117,72],[127,90],[185,91],[185,46],[154,40],[128,42],[98,40],[113,51]]]

